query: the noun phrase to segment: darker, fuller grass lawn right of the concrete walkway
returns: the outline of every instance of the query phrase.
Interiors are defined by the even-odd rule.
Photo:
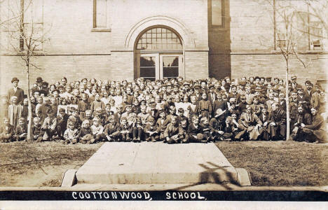
[[[234,167],[250,173],[252,186],[328,186],[328,145],[242,141],[217,146]]]

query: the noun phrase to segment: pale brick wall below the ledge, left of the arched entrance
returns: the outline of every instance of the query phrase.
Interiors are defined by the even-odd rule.
[[[82,78],[111,80],[111,57],[109,55],[72,55],[37,57],[38,67],[32,68],[31,81],[41,76],[48,83],[55,83],[65,76],[69,81]],[[20,87],[27,90],[27,77],[20,57],[1,56],[1,94],[11,87],[11,79],[17,77]],[[32,85],[32,84],[31,84]]]

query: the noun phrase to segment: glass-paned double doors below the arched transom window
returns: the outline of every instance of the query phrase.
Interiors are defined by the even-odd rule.
[[[182,54],[137,53],[137,78],[156,80],[182,76]]]

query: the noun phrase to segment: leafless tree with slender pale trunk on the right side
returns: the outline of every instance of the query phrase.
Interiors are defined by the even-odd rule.
[[[290,112],[289,112],[289,72],[292,59],[297,59],[304,67],[304,71],[319,57],[309,57],[307,50],[316,47],[324,50],[324,41],[327,39],[327,0],[266,0],[268,11],[263,15],[271,16],[275,31],[274,52],[282,55],[285,60],[286,85],[286,115],[287,136],[290,140]],[[273,13],[271,13],[273,11]],[[322,29],[325,29],[323,32]],[[268,43],[267,37],[259,37],[261,44]],[[320,52],[320,51],[317,51]]]

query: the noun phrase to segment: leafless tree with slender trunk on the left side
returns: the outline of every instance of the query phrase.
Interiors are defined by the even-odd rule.
[[[27,141],[32,139],[32,103],[30,76],[33,69],[41,69],[36,64],[36,56],[42,55],[42,45],[48,39],[43,30],[42,1],[40,0],[4,0],[1,1],[2,13],[0,31],[6,37],[1,42],[2,52],[19,55],[25,66],[27,77],[28,126]],[[41,12],[40,12],[41,11]],[[3,37],[4,37],[3,36]]]

